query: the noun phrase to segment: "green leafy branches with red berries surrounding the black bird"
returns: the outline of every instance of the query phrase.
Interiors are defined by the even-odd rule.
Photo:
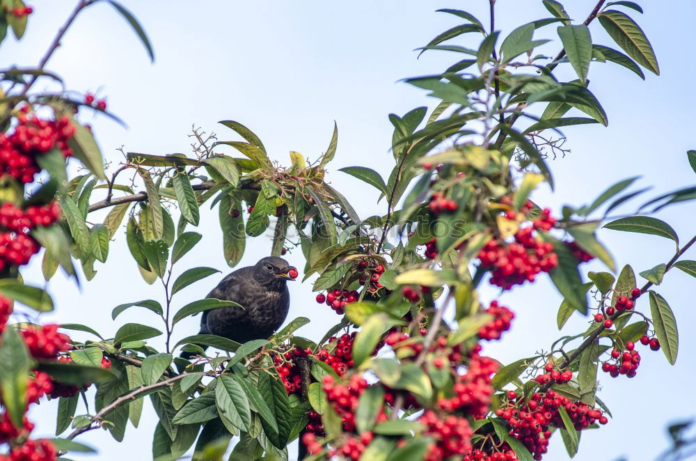
[[[88,111],[111,116],[104,100],[32,88],[40,78],[58,79],[45,63],[92,3],[79,1],[38,68],[2,75],[0,357],[6,366],[0,369],[0,442],[8,442],[10,453],[3,459],[18,459],[22,450],[47,460],[58,451],[88,450],[73,439],[99,427],[120,441],[127,424],[139,424],[145,398],[159,416],[157,427],[148,428],[158,460],[179,458],[191,447],[193,459],[219,460],[232,436],[239,438],[230,460],[287,460],[287,446],[298,438],[300,458],[313,460],[479,460],[497,452],[504,455],[495,459],[531,460],[541,459],[555,430],[573,456],[582,430],[608,422],[608,408],[596,395],[600,369],[633,377],[638,342],[662,349],[670,364],[677,360],[677,320],[654,288],[673,267],[696,275],[696,262],[681,259],[696,237],[681,244],[669,224],[649,214],[696,198],[693,187],[650,198],[635,213],[612,220],[610,212],[644,192],[627,192],[635,178],[560,212],[530,199],[542,183],[553,188],[548,159],[563,153],[562,127],[608,124],[589,88],[596,63],[615,63],[642,78],[643,70],[659,73],[654,50],[627,14],[642,13],[637,4],[600,1],[577,22],[561,3],[544,0],[553,17],[509,33],[495,29],[495,17],[487,28],[466,11],[441,10],[461,24],[421,52],[448,51],[459,61],[444,72],[406,80],[429,92],[434,109],[390,114],[394,166],[387,178],[365,166],[341,169],[384,199],[384,214],[361,219],[349,196],[326,178],[338,151],[337,129],[319,158],[291,152],[288,166],[271,161],[250,129],[223,120],[230,138],[243,141],[217,141],[196,131],[191,157],[125,153],[118,167],[105,168],[91,130],[78,121]],[[109,3],[154,58],[134,16]],[[490,3],[494,15],[495,1]],[[21,0],[3,1],[0,40],[8,27],[21,38],[29,15]],[[625,54],[592,41],[591,31],[599,27]],[[557,43],[535,39],[553,29]],[[468,46],[453,45],[455,39]],[[555,58],[537,51],[553,45],[561,48]],[[577,78],[563,81],[555,72],[559,66]],[[690,151],[692,166],[694,158]],[[68,179],[66,159],[85,169]],[[39,185],[41,171],[48,179]],[[93,198],[100,193],[102,199]],[[317,302],[340,315],[322,341],[296,336],[308,322],[298,318],[270,338],[244,344],[209,334],[171,343],[183,318],[235,305],[200,299],[172,308],[178,292],[219,272],[192,267],[172,276],[202,237],[191,227],[200,223],[204,205],[218,209],[230,267],[239,263],[247,239],[271,223],[271,255],[301,251],[304,278],[317,276]],[[90,214],[106,209],[104,222],[93,224]],[[630,265],[615,274],[613,256],[596,239],[599,226],[667,238],[675,244],[674,256],[640,271],[647,282],[638,286]],[[44,290],[19,275],[40,247],[47,281],[58,267],[89,281],[95,266],[115,258],[109,247],[120,228],[143,279],[164,286],[164,302],[122,304],[112,318],[144,308],[150,312],[143,311],[149,315],[143,318],[152,322],[120,325],[113,338],[86,325],[61,326],[95,336],[85,343],[58,333],[57,326],[8,323],[15,301],[38,312],[54,308]],[[299,243],[287,239],[293,228]],[[610,272],[585,273],[582,264],[592,258]],[[484,306],[480,284],[488,279],[512,290],[544,273],[563,298],[559,328],[571,315],[582,315],[587,331],[512,364],[480,355],[480,342],[499,339],[514,318],[496,301]],[[19,311],[14,316],[24,318]],[[164,350],[156,350],[152,338],[163,339]],[[200,345],[224,353],[205,353]],[[181,350],[200,356],[193,362],[175,357]],[[93,384],[94,406],[77,414],[78,394],[85,397]],[[29,438],[33,425],[24,416],[45,394],[59,399],[56,435],[62,437],[52,442]]]

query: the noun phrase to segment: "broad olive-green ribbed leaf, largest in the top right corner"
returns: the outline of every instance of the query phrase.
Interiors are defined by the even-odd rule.
[[[604,10],[599,13],[597,19],[628,56],[655,75],[660,75],[655,52],[642,29],[633,22],[633,19],[617,10]]]

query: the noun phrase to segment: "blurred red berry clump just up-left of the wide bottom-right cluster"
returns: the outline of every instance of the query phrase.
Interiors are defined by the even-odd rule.
[[[475,419],[484,418],[491,406],[491,396],[494,392],[491,380],[496,371],[498,371],[497,361],[472,352],[469,354],[466,373],[457,374],[455,378],[454,386],[452,386],[454,397],[439,398],[438,406],[449,412],[459,409]]]

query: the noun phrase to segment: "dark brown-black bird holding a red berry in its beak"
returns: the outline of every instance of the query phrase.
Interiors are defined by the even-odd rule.
[[[242,307],[204,311],[199,334],[216,334],[237,343],[268,338],[285,322],[290,307],[286,282],[296,276],[297,269],[283,258],[274,256],[262,258],[254,266],[235,270],[207,297],[236,302]],[[205,349],[204,345],[201,347]],[[184,359],[194,355],[196,352],[181,353]]]

